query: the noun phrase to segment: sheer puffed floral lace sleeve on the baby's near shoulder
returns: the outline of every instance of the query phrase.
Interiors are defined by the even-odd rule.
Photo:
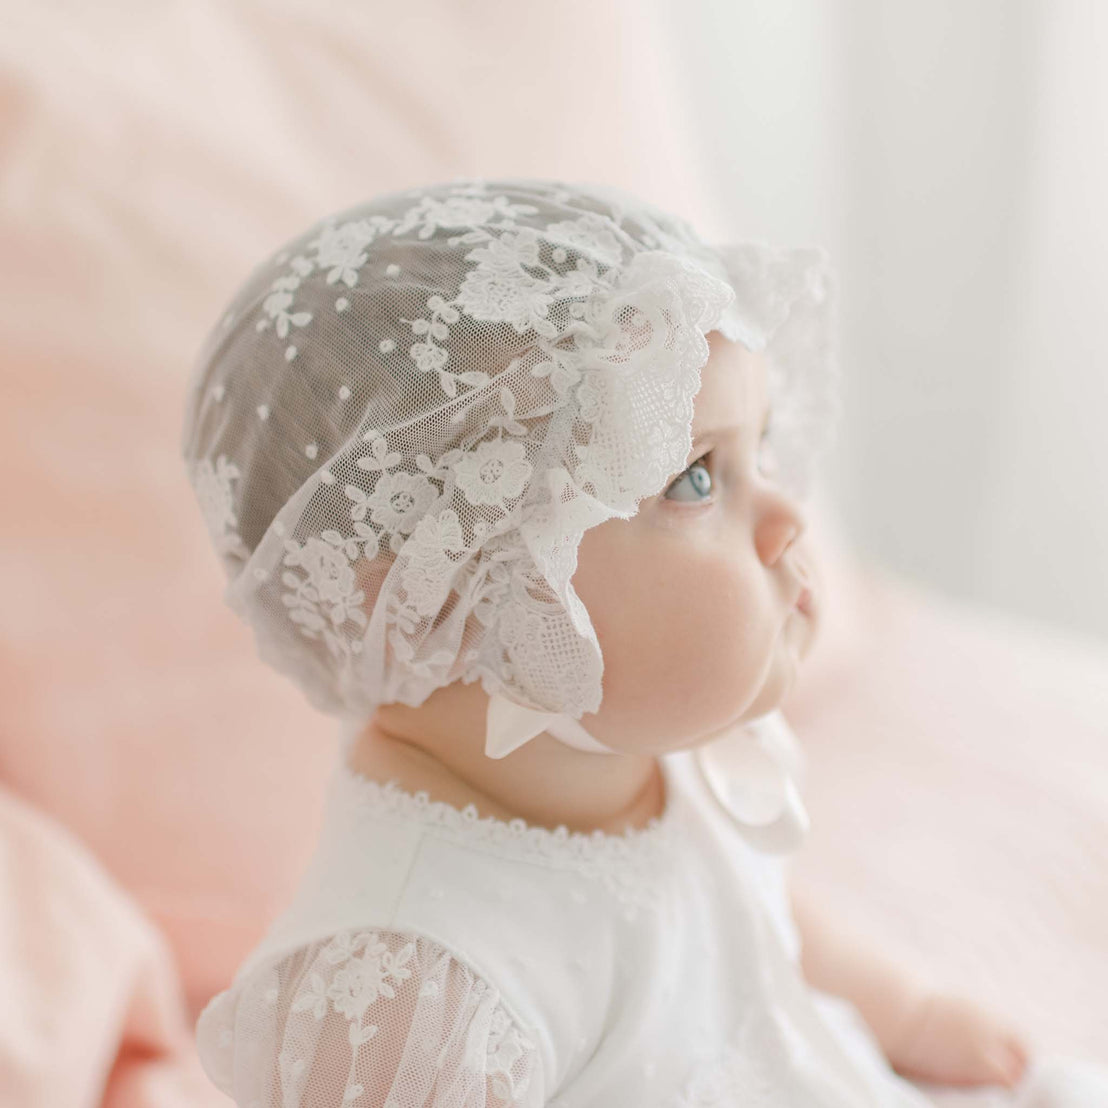
[[[345,931],[236,979],[196,1024],[242,1108],[538,1108],[537,1045],[431,940]]]

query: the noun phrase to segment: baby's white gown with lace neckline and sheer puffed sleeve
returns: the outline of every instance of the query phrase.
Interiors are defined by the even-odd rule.
[[[244,1108],[931,1108],[801,976],[802,756],[756,722],[663,756],[618,835],[371,780],[346,728],[291,903],[197,1022],[208,1076]]]

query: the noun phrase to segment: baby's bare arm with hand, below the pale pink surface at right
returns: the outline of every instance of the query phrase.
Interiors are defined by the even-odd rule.
[[[893,1069],[943,1085],[1019,1081],[1028,1051],[1004,1019],[936,988],[794,884],[789,895],[806,979],[853,1004]]]

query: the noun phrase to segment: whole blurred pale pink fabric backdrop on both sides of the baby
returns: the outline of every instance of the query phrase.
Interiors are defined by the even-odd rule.
[[[607,181],[727,229],[650,11],[0,14],[0,1102],[228,1104],[193,1020],[315,844],[336,724],[223,606],[177,453],[204,334],[309,220],[448,176]],[[1105,1057],[1108,647],[879,567],[825,490],[811,525],[798,881]]]

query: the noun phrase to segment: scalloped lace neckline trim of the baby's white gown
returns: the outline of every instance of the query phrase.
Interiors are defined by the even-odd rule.
[[[432,800],[425,789],[414,792],[394,778],[379,781],[351,769],[345,752],[336,768],[335,788],[339,802],[376,817],[414,820],[466,842],[517,849],[526,858],[541,861],[598,861],[627,858],[668,845],[676,837],[681,807],[677,767],[670,751],[658,759],[666,789],[666,807],[640,828],[614,833],[571,831],[564,823],[555,829],[529,823],[515,817],[481,815],[474,802],[462,808],[445,800]]]

